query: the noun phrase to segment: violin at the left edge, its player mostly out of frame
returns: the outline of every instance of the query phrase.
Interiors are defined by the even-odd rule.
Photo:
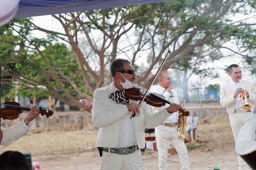
[[[17,102],[5,102],[0,105],[0,118],[13,120],[19,117],[20,113],[22,113],[22,110],[30,111],[30,108],[22,107]],[[47,118],[51,117],[53,115],[51,110],[48,110],[47,108],[39,108],[39,113],[41,115],[46,115]]]

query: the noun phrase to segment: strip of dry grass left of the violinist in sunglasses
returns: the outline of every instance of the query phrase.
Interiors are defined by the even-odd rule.
[[[81,153],[95,147],[97,130],[90,131],[51,131],[33,134],[15,141],[12,145],[0,146],[1,152],[19,150],[33,155],[52,155],[56,153]]]

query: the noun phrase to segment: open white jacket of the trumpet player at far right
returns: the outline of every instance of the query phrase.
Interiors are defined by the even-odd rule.
[[[252,81],[243,80],[243,88],[249,92],[248,104],[252,106],[250,110],[253,112],[256,106],[256,84]],[[234,113],[236,106],[234,81],[228,81],[220,86],[220,104],[227,107],[227,113]]]

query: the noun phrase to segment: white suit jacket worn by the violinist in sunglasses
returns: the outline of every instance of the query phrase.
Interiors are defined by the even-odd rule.
[[[116,104],[109,99],[109,95],[115,92],[116,87],[113,82],[99,89],[93,94],[92,103],[92,123],[99,127],[97,147],[116,148],[119,142],[120,119],[129,113],[127,106]],[[129,103],[139,103],[130,100]],[[145,128],[153,128],[161,124],[170,116],[166,109],[152,113],[148,104],[143,102],[140,107],[140,115],[132,118],[134,132],[139,148],[145,148]]]

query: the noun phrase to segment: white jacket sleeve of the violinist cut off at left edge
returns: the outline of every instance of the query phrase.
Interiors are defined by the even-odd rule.
[[[17,139],[26,135],[28,131],[24,128],[23,124],[24,120],[21,120],[18,124],[13,125],[12,127],[1,127],[1,130],[3,131],[3,139],[1,140],[1,145],[11,145],[13,141],[17,141]]]

